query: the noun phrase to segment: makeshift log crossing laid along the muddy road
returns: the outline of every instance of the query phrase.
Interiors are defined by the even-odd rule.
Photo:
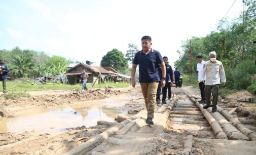
[[[255,132],[223,108],[223,103],[212,113],[199,100],[198,95],[173,94],[166,105],[156,106],[155,125],[145,123],[147,111],[141,109],[65,154],[190,154],[195,138],[250,141],[255,146]],[[253,154],[256,150],[252,149]]]

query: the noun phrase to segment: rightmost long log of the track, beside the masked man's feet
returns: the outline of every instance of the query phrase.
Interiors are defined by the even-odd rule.
[[[246,128],[244,125],[242,125],[241,122],[236,117],[234,117],[232,114],[230,114],[226,109],[223,109],[223,108],[217,106],[217,111],[222,113],[222,115],[228,121],[232,122],[232,124],[234,124],[235,127],[237,127],[237,129],[240,132],[242,132],[243,134],[248,136],[251,141],[256,141],[256,134],[253,131],[251,131],[250,129]]]

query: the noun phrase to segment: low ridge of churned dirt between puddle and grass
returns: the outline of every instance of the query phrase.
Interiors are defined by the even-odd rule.
[[[129,92],[128,89],[95,89],[90,91],[72,91],[63,94],[44,94],[31,97],[21,97],[15,100],[3,99],[2,105],[12,114],[28,109],[49,109],[59,105],[71,104],[81,101],[92,101],[107,98],[112,95]]]

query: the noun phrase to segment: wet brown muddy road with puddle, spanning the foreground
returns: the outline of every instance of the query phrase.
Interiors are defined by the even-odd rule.
[[[118,114],[136,117],[97,145],[86,151],[82,147],[79,154],[256,154],[255,104],[237,103],[234,97],[220,99],[220,108],[250,132],[243,133],[232,121],[208,112],[222,130],[216,133],[214,123],[205,117],[207,111],[196,104],[199,90],[185,86],[172,92],[168,106],[156,106],[153,126],[145,124],[139,86],[31,92],[28,98],[6,100],[2,105],[15,118],[0,118],[0,154],[71,154],[118,126],[114,121]],[[107,122],[97,124],[99,120]]]

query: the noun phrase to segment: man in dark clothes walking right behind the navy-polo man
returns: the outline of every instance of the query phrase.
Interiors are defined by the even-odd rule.
[[[164,63],[165,63],[165,69],[166,69],[166,79],[165,79],[165,87],[162,88],[161,82],[158,84],[158,89],[157,89],[157,104],[160,105],[160,95],[161,95],[161,89],[163,93],[162,97],[162,104],[166,104],[166,96],[167,96],[167,89],[168,89],[168,99],[171,98],[171,85],[173,83],[173,70],[172,67],[168,64],[168,57],[164,56]],[[162,71],[161,71],[161,66],[159,66],[159,76],[160,79],[162,79]]]

